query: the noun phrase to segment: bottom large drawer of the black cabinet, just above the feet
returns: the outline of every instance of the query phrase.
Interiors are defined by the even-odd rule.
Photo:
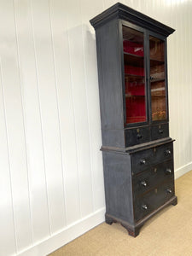
[[[160,206],[169,201],[175,195],[174,183],[163,183],[160,187],[148,191],[134,201],[134,215],[135,221],[141,220],[149,213],[154,212]]]

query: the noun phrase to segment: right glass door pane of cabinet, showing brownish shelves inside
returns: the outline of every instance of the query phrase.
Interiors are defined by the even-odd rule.
[[[149,38],[152,120],[166,119],[165,42]]]

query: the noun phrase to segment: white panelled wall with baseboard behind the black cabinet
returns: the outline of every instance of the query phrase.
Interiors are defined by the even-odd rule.
[[[104,220],[96,38],[113,0],[0,0],[0,255],[42,256]],[[127,0],[168,39],[176,177],[192,169],[192,1]]]

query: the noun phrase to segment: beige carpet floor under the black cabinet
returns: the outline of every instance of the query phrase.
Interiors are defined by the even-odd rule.
[[[177,178],[177,206],[148,220],[136,238],[120,224],[100,224],[49,256],[192,256],[192,171]]]

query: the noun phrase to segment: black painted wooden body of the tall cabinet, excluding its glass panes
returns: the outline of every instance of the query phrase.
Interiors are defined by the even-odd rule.
[[[118,221],[131,236],[137,236],[148,218],[170,204],[177,204],[173,140],[169,137],[167,74],[166,119],[153,122],[146,57],[148,36],[160,38],[166,45],[166,38],[174,29],[122,3],[114,4],[90,23],[96,29],[106,223]],[[143,124],[125,124],[122,25],[144,32],[148,119]]]

